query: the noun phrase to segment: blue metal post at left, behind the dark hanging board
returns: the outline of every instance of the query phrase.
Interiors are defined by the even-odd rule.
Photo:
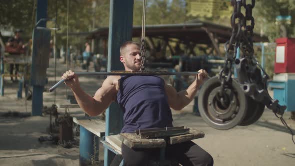
[[[38,0],[37,1],[37,11],[36,11],[36,23],[42,19],[47,18],[47,6],[48,0]],[[46,27],[46,21],[42,21],[38,24],[39,27]],[[35,41],[33,41],[35,42]],[[32,61],[34,63],[34,61]],[[31,72],[35,72],[37,68],[33,68]],[[41,116],[43,108],[43,91],[44,86],[34,85],[32,92],[32,116]]]

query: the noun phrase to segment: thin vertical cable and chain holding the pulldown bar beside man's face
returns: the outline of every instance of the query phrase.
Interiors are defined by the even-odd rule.
[[[141,30],[141,42],[140,42],[140,71],[145,71],[145,15],[146,15],[146,0],[143,1],[142,11],[142,30]]]

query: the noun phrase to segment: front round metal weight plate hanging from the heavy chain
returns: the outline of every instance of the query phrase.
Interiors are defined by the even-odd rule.
[[[246,115],[247,98],[239,83],[232,80],[225,86],[225,106],[218,98],[220,81],[217,76],[207,80],[198,96],[199,111],[204,121],[211,127],[226,130],[238,125]]]

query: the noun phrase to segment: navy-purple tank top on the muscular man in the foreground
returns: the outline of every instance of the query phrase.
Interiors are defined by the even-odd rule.
[[[124,112],[121,133],[172,126],[164,80],[157,76],[122,76],[117,102]]]

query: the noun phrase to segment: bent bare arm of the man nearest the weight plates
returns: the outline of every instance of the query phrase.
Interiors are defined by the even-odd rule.
[[[198,88],[203,84],[204,79],[208,77],[205,70],[199,70],[195,81],[186,89],[177,92],[171,85],[165,84],[169,106],[174,110],[181,110],[188,105],[194,98]]]

